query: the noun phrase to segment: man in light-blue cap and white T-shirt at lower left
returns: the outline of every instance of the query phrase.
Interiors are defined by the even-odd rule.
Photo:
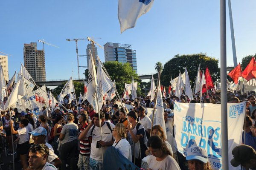
[[[38,127],[29,133],[32,135],[34,144],[45,144],[49,148],[49,153],[47,154],[47,162],[54,164],[55,167],[61,167],[61,160],[54,153],[52,145],[45,142],[45,138],[47,136],[47,130],[44,127]]]

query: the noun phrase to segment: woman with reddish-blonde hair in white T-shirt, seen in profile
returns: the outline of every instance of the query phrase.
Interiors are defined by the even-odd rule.
[[[132,161],[131,157],[131,145],[126,140],[125,126],[122,123],[117,123],[113,129],[113,137],[116,139],[113,143],[113,147],[119,150],[125,158]]]

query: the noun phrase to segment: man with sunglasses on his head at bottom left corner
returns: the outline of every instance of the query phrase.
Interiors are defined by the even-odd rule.
[[[34,144],[29,148],[29,168],[32,170],[57,170],[47,162],[49,148],[46,144]]]

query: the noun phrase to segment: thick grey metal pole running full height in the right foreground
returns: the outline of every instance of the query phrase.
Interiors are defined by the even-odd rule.
[[[227,44],[226,44],[226,0],[220,0],[221,31],[221,155],[222,169],[228,170],[227,132]]]

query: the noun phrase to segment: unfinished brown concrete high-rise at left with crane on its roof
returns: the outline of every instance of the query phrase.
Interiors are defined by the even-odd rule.
[[[37,49],[36,42],[24,44],[24,66],[35,82],[46,81],[44,50]]]

